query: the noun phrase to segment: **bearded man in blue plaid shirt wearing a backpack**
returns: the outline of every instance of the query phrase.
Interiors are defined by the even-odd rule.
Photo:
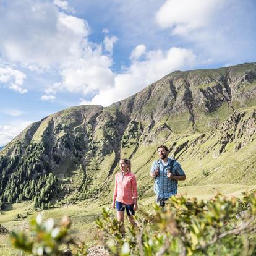
[[[156,203],[164,207],[166,200],[177,194],[177,181],[184,181],[186,174],[177,161],[168,158],[168,147],[161,145],[157,151],[160,159],[153,162],[150,176],[155,179]]]

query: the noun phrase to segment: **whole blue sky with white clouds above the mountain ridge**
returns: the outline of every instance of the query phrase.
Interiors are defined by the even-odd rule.
[[[255,62],[255,0],[0,0],[0,146],[174,70]]]

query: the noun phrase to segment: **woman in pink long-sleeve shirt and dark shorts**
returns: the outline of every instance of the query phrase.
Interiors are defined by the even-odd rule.
[[[121,159],[119,167],[121,171],[115,176],[112,207],[116,208],[117,220],[122,223],[122,233],[124,235],[124,210],[126,210],[129,223],[134,227],[137,226],[133,217],[138,209],[137,182],[135,175],[131,173],[129,159]]]

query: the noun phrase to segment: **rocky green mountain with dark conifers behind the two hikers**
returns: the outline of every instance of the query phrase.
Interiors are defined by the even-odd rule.
[[[109,202],[120,158],[132,160],[140,197],[156,147],[171,148],[194,184],[255,184],[256,63],[176,71],[103,108],[77,106],[31,124],[0,152],[0,207]]]

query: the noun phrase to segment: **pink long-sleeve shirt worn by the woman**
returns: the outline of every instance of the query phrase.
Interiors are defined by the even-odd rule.
[[[133,173],[119,172],[115,176],[113,200],[125,205],[132,205],[137,198],[137,182]]]

